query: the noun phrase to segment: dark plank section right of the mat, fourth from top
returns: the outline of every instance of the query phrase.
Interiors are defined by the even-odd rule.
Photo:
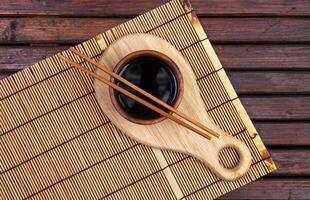
[[[233,71],[228,77],[239,94],[310,94],[310,71]]]

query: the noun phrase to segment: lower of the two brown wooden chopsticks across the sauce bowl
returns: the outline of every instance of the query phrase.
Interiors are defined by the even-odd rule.
[[[140,97],[138,97],[138,96],[136,96],[136,95],[134,95],[134,94],[128,92],[127,90],[125,90],[125,89],[119,87],[119,86],[116,85],[115,83],[113,83],[113,82],[111,82],[111,81],[109,81],[109,80],[107,80],[107,79],[105,79],[105,78],[99,76],[99,75],[96,74],[95,72],[92,72],[92,71],[86,69],[86,68],[83,67],[82,65],[77,64],[77,63],[75,63],[74,61],[72,61],[72,60],[70,60],[70,59],[68,59],[68,58],[66,58],[66,57],[64,57],[64,56],[62,56],[62,55],[59,55],[59,58],[62,59],[63,61],[65,61],[65,62],[69,63],[70,65],[76,67],[77,69],[79,69],[79,70],[85,72],[85,73],[88,74],[89,76],[92,76],[93,78],[98,79],[99,81],[101,81],[101,82],[107,84],[108,86],[110,86],[111,88],[117,90],[118,92],[120,92],[120,93],[122,93],[122,94],[128,96],[129,98],[131,98],[131,99],[133,99],[133,100],[135,100],[135,101],[137,101],[137,102],[143,104],[144,106],[148,107],[149,109],[151,109],[151,110],[153,110],[153,111],[155,111],[155,112],[157,112],[157,113],[159,113],[159,114],[161,114],[161,115],[163,115],[163,116],[169,118],[170,120],[172,120],[172,121],[174,121],[174,122],[180,124],[181,126],[184,126],[184,127],[188,128],[188,129],[190,129],[191,131],[194,131],[195,133],[201,135],[202,137],[204,137],[204,138],[206,138],[206,139],[211,139],[211,137],[210,137],[209,135],[206,135],[204,132],[202,132],[202,131],[200,131],[200,130],[198,130],[198,129],[192,127],[192,126],[190,126],[189,124],[187,124],[187,123],[181,121],[180,119],[178,119],[178,118],[172,116],[171,114],[166,113],[166,112],[163,111],[162,109],[160,109],[160,108],[158,108],[158,107],[152,105],[151,103],[145,101],[144,99],[142,99],[142,98],[140,98]]]

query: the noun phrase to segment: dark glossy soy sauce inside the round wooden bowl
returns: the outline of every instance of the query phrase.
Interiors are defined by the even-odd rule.
[[[134,58],[120,68],[119,75],[169,105],[173,105],[177,98],[178,84],[175,74],[166,62],[157,57],[141,56]],[[162,110],[167,111],[167,109],[123,83],[118,81],[115,83]],[[161,116],[157,112],[117,91],[115,91],[115,97],[120,107],[131,117],[151,120]]]

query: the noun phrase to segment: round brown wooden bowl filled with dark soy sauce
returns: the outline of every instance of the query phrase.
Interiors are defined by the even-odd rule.
[[[133,52],[116,65],[114,72],[170,106],[176,108],[180,103],[183,93],[181,73],[176,64],[160,52],[149,50]],[[156,107],[168,111],[125,84],[113,79],[112,81]],[[131,122],[154,124],[165,119],[157,112],[111,88],[110,96],[116,110]]]

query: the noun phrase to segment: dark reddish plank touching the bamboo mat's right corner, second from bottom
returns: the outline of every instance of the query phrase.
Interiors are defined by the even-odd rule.
[[[270,176],[309,176],[309,149],[268,149],[277,170]]]

